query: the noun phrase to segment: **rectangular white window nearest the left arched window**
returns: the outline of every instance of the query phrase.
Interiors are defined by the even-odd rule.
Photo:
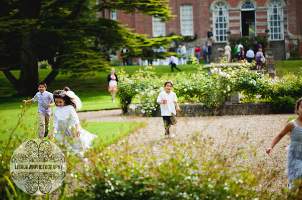
[[[182,36],[194,36],[193,5],[180,5],[180,34]]]

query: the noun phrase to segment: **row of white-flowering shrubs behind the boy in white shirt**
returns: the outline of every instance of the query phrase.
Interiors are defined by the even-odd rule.
[[[201,102],[214,115],[219,114],[225,102],[236,93],[243,94],[243,101],[270,101],[276,113],[292,112],[294,102],[302,96],[300,73],[297,76],[288,74],[281,79],[272,79],[268,74],[250,72],[254,64],[242,62],[235,66],[232,63],[212,63],[211,75],[208,75],[202,71],[195,57],[190,59],[197,73],[166,74],[160,79],[152,66],[136,71],[130,78],[121,72],[119,77],[123,81],[118,86],[118,97],[124,113],[127,112],[125,107],[136,96],[140,99],[141,112],[152,116],[159,107],[157,96],[164,91],[164,82],[167,80],[174,82],[173,91],[179,99]]]

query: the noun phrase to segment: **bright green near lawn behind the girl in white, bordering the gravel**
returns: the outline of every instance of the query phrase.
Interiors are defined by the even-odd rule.
[[[0,146],[3,146],[8,141],[13,128],[17,125],[19,114],[21,113],[20,103],[11,103],[10,107],[14,105],[19,108],[9,109],[9,104],[0,104]],[[5,108],[7,107],[7,108]],[[37,138],[38,133],[38,113],[37,105],[31,106],[22,115],[22,122],[15,130],[13,135],[19,138],[27,135],[29,138]],[[53,121],[50,121],[50,129]],[[81,122],[83,128],[99,137],[95,140],[94,145],[99,144],[109,145],[135,130],[146,125],[145,122]]]

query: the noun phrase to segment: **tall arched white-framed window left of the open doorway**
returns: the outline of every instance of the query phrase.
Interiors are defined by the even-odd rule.
[[[228,32],[229,30],[229,11],[228,11],[228,6],[224,3],[217,3],[214,6],[213,9],[213,35],[215,38],[215,42],[217,43],[225,43],[227,40]],[[220,16],[220,11],[222,11],[222,15]],[[221,18],[221,19],[220,19]],[[220,22],[220,20],[222,20]],[[217,27],[216,27],[217,25]],[[225,27],[224,27],[225,25]],[[221,27],[220,27],[221,26]],[[222,31],[222,34],[221,34]],[[222,37],[222,39],[221,39]]]

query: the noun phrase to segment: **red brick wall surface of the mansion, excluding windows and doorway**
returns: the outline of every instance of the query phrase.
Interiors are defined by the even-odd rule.
[[[263,9],[257,10],[257,8],[265,8],[269,0],[256,0],[252,1],[256,6],[256,30],[257,36],[264,36],[264,30],[267,28],[267,12]],[[283,1],[283,0],[280,0]],[[209,8],[213,2],[220,2],[215,0],[170,0],[169,5],[172,8],[172,15],[177,15],[174,20],[170,20],[166,23],[166,34],[175,33],[180,35],[180,5],[192,4],[193,5],[193,20],[194,20],[194,34],[197,34],[197,38],[206,38],[207,30],[212,27],[212,13],[209,12]],[[242,1],[240,0],[221,0],[225,2],[231,9],[240,8]],[[302,0],[284,0],[286,8],[284,12],[284,36],[295,37],[298,40],[299,54],[302,56]],[[100,14],[99,14],[100,16]],[[102,15],[101,15],[102,16]],[[110,17],[110,12],[105,12],[105,17]],[[232,37],[240,37],[241,33],[241,11],[229,11],[229,25]],[[117,12],[117,20],[122,24],[126,24],[126,28],[135,29],[133,32],[139,34],[147,34],[152,37],[152,17],[144,16],[141,14],[125,14],[122,11]],[[212,29],[212,28],[211,28]]]

